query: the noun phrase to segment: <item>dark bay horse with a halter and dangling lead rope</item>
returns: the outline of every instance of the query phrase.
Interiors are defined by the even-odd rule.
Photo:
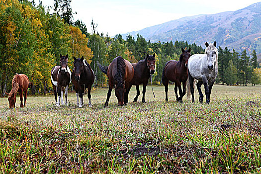
[[[134,102],[138,100],[138,97],[140,95],[140,85],[143,84],[143,90],[142,90],[142,102],[146,103],[145,101],[145,93],[146,93],[146,87],[148,85],[148,81],[150,79],[151,74],[155,73],[155,53],[153,56],[147,54],[146,58],[143,60],[140,60],[138,63],[131,64],[134,69],[134,77],[131,81],[131,86],[136,86],[137,94],[134,98]],[[128,103],[128,94],[130,92],[131,86],[129,89],[127,89],[127,97],[125,99],[126,103]]]

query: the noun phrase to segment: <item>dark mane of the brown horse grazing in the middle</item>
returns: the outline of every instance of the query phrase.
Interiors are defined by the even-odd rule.
[[[122,57],[118,56],[117,58],[117,73],[114,77],[114,81],[117,84],[117,87],[123,87],[124,80],[123,77],[125,76],[125,61]]]

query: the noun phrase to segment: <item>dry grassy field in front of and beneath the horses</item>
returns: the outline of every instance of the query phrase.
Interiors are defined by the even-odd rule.
[[[26,108],[0,98],[1,173],[259,173],[261,87],[215,85],[210,104],[184,97],[174,86],[147,87],[146,101],[117,106],[107,88],[92,91],[92,108],[55,107],[54,96],[29,96]],[[205,99],[205,98],[204,98]],[[253,102],[250,102],[253,101]]]

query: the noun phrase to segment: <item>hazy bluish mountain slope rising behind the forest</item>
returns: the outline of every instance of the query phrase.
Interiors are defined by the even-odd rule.
[[[222,48],[228,47],[242,52],[256,50],[261,53],[261,2],[237,11],[218,14],[200,14],[183,17],[163,24],[131,32],[137,33],[151,42],[187,41],[204,48],[205,41],[217,41]],[[123,34],[123,38],[126,38]]]

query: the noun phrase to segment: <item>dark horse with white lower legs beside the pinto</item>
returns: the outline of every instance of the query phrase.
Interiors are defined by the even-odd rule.
[[[72,73],[72,83],[74,84],[74,88],[76,91],[77,96],[77,106],[83,107],[84,106],[84,99],[83,95],[85,92],[86,87],[88,88],[88,99],[89,99],[89,107],[91,107],[90,102],[90,90],[91,85],[94,82],[94,72],[90,68],[90,65],[82,58],[76,59],[74,57],[74,70]],[[79,96],[80,96],[80,103],[79,103]]]

